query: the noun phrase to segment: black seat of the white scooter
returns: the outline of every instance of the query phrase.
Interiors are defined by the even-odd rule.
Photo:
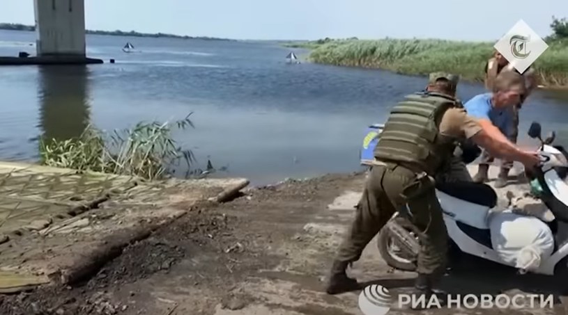
[[[486,184],[471,181],[456,181],[436,184],[436,189],[459,200],[493,208],[497,204],[497,193]]]

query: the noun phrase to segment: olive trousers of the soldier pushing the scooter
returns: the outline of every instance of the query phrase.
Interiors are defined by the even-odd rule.
[[[446,263],[447,231],[433,181],[429,177],[418,179],[415,172],[395,165],[374,166],[371,170],[337,260],[359,260],[365,246],[398,210],[423,231],[417,272],[441,276]]]

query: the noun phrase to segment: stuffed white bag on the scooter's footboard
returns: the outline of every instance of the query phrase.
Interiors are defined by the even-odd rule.
[[[491,213],[491,244],[500,259],[521,271],[534,271],[554,250],[554,237],[546,223],[511,212]]]

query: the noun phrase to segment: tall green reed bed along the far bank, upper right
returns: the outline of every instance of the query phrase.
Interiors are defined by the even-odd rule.
[[[312,47],[314,63],[369,67],[400,74],[425,75],[435,71],[483,81],[484,66],[493,54],[493,42],[450,40],[330,40],[297,43]],[[568,88],[568,43],[552,42],[535,63],[540,84]]]

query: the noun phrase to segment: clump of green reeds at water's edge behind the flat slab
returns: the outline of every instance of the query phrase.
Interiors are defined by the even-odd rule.
[[[130,129],[105,133],[89,126],[72,139],[42,139],[40,163],[79,171],[107,172],[163,179],[171,175],[171,166],[186,163],[194,156],[183,150],[173,138],[174,129],[193,127],[190,115],[174,123],[139,122]]]

